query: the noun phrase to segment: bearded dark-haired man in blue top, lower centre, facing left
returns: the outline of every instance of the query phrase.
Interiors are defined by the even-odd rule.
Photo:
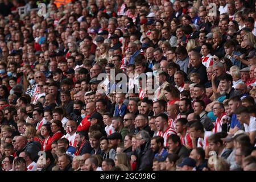
[[[164,138],[163,137],[153,137],[151,139],[151,146],[150,148],[155,153],[154,158],[158,156],[166,156],[168,154],[167,150],[164,148]]]

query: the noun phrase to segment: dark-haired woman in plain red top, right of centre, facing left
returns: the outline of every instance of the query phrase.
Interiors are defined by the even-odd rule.
[[[164,96],[167,100],[167,106],[175,104],[176,101],[180,100],[180,92],[174,85],[168,85],[164,88]]]

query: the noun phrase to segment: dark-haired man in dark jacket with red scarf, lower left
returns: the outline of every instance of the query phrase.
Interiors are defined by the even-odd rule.
[[[76,134],[76,151],[75,155],[84,155],[89,157],[90,152],[92,152],[92,147],[90,146],[88,134],[85,131],[79,131]]]

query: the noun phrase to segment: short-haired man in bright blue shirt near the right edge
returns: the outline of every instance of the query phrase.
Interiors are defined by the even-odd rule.
[[[236,131],[242,129],[242,126],[241,126],[240,122],[238,121],[237,114],[236,114],[238,107],[240,107],[241,105],[242,105],[242,102],[240,100],[240,97],[235,96],[235,97],[230,98],[229,109],[230,109],[230,113],[232,113],[230,129],[229,129],[230,134],[234,134],[234,133],[236,133]]]

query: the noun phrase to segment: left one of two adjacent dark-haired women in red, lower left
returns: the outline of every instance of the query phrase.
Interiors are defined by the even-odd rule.
[[[51,136],[52,136],[52,131],[51,131],[51,125],[49,124],[44,124],[42,126],[41,130],[41,135],[44,137],[43,139],[43,150],[44,151],[51,151]]]

